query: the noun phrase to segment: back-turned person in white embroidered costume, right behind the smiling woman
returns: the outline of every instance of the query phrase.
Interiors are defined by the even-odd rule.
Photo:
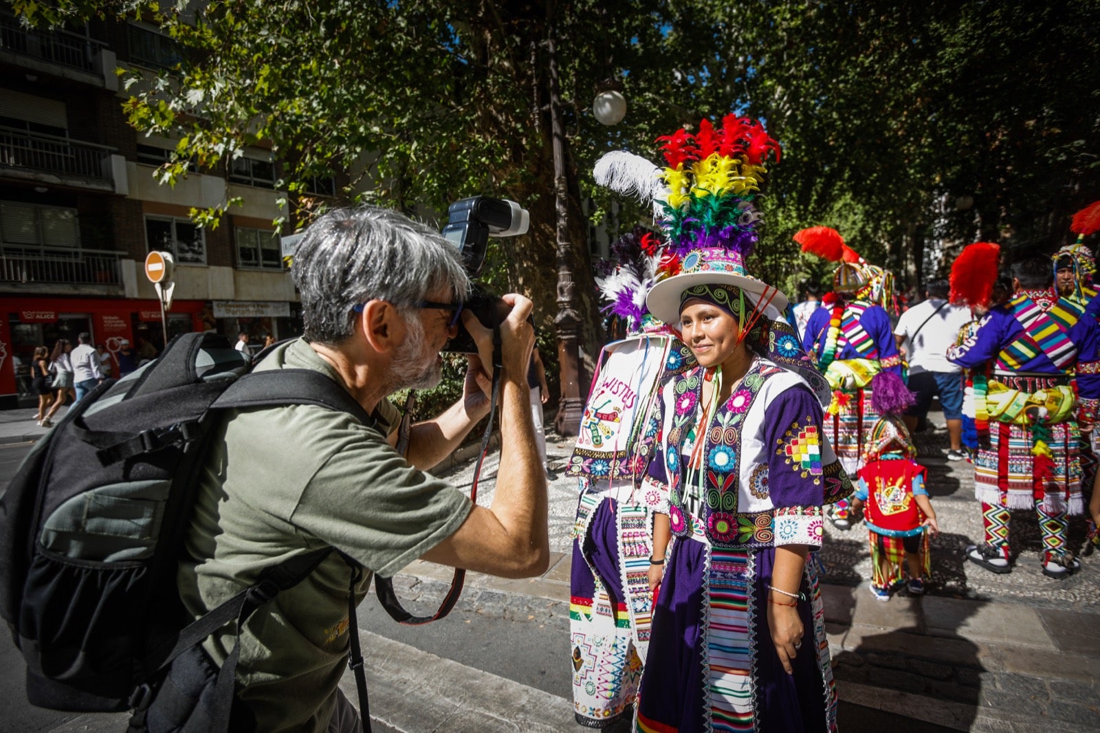
[[[606,309],[630,335],[600,354],[565,469],[580,486],[570,579],[573,713],[588,727],[634,714],[649,644],[653,513],[668,512],[664,493],[640,488],[653,445],[646,427],[659,380],[694,363],[646,308],[658,245],[636,229],[612,245],[610,271],[596,278]]]

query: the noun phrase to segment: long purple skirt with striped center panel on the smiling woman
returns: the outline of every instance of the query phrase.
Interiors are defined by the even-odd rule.
[[[799,615],[804,633],[788,675],[768,631],[774,548],[712,549],[676,539],[653,610],[637,731],[835,730],[835,689],[813,571]],[[730,670],[734,670],[730,674]]]

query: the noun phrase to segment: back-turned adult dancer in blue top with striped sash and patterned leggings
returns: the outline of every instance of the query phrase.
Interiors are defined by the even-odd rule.
[[[1100,333],[1082,306],[1058,297],[1046,258],[1013,263],[1012,278],[1013,297],[947,351],[966,369],[993,362],[985,395],[975,391],[989,426],[982,435],[979,424],[974,461],[985,541],[967,547],[966,557],[992,572],[1011,571],[1009,510],[1034,508],[1043,573],[1066,578],[1080,567],[1066,547],[1066,517],[1084,511],[1079,436],[1091,429],[1100,397]]]

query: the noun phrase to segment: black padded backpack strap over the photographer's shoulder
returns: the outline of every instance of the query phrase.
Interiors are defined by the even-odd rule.
[[[311,369],[273,369],[250,372],[231,384],[211,405],[218,409],[318,405],[348,413],[367,427],[377,420],[348,391]]]

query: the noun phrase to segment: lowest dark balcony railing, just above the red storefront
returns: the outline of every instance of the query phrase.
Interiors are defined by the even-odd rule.
[[[122,252],[50,247],[0,247],[0,282],[121,285]]]

